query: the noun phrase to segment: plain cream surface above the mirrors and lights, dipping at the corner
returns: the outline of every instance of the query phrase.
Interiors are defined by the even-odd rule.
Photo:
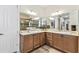
[[[57,11],[79,10],[79,5],[22,5],[20,11],[30,10],[37,13],[39,17],[48,17]]]

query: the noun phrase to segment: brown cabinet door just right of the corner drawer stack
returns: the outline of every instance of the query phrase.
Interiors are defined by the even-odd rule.
[[[63,39],[60,34],[53,34],[53,46],[63,50]]]

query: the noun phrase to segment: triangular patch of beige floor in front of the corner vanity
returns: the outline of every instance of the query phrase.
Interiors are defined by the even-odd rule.
[[[47,45],[44,45],[38,49],[36,49],[35,51],[33,51],[32,53],[62,53],[54,48],[51,48]]]

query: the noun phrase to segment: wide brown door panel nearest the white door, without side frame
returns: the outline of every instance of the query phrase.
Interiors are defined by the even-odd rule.
[[[26,35],[23,40],[23,52],[29,52],[33,49],[33,36]]]

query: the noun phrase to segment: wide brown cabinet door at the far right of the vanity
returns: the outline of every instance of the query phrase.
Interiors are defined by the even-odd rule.
[[[63,45],[63,50],[66,52],[78,52],[78,37],[64,35]]]

